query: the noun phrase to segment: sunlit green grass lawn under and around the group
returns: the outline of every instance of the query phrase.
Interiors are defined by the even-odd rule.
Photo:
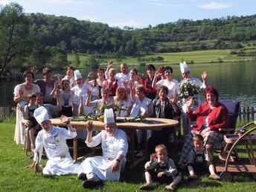
[[[240,123],[241,125],[245,122]],[[241,125],[238,126],[241,126]],[[25,169],[25,165],[31,164],[32,160],[25,157],[22,145],[16,145],[13,141],[15,124],[4,121],[0,123],[0,191],[85,191],[81,181],[77,176],[35,176],[33,169]],[[83,144],[80,144],[83,145]],[[254,146],[255,147],[255,146]],[[244,147],[239,147],[242,161],[246,161]],[[80,153],[86,151],[80,148]],[[71,153],[72,154],[72,153]],[[170,154],[176,162],[179,153],[173,151]],[[46,164],[46,159],[42,159],[41,164]],[[144,184],[142,177],[144,163],[130,170],[128,167],[121,174],[120,182],[104,182],[102,188],[95,191],[140,191],[139,186]],[[200,179],[188,182],[188,174],[178,185],[177,191],[256,191],[255,173],[234,175],[234,182],[220,182],[208,179],[208,172],[198,173]],[[155,191],[163,191],[165,185],[156,185]]]

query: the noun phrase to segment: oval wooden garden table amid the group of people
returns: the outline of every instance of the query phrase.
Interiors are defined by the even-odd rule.
[[[117,118],[117,121],[120,121],[124,118]],[[166,118],[147,118],[147,120],[149,121],[154,121],[154,123],[138,123],[138,122],[127,122],[127,123],[116,123],[118,126],[118,129],[122,129],[124,130],[124,132],[127,133],[127,135],[129,135],[129,137],[131,138],[131,141],[129,142],[129,150],[131,153],[131,156],[129,158],[130,161],[130,167],[135,167],[136,164],[138,164],[140,161],[143,161],[144,159],[147,158],[147,147],[145,147],[144,149],[144,154],[145,156],[143,156],[141,159],[138,159],[137,161],[135,161],[134,159],[134,153],[135,153],[135,132],[136,129],[142,129],[142,130],[161,130],[164,127],[173,127],[179,124],[179,121],[173,120],[173,119],[166,119]],[[52,118],[51,119],[51,124],[55,125],[55,126],[60,126],[60,127],[65,127],[66,125],[63,124],[63,122],[60,121],[60,118]],[[86,121],[71,121],[71,125],[77,129],[77,135],[86,130],[85,127]],[[95,131],[101,131],[104,129],[104,124],[100,121],[93,121],[93,124],[95,125]],[[147,133],[145,134],[147,135]],[[144,139],[144,141],[147,141],[147,139]],[[147,143],[146,145],[147,146]],[[81,158],[77,157],[77,137],[73,139],[73,159],[74,161],[77,161]]]

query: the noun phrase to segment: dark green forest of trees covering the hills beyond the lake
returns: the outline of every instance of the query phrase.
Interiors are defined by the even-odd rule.
[[[121,29],[67,16],[27,14],[16,3],[0,8],[0,76],[10,68],[22,69],[34,64],[63,68],[68,65],[68,53],[121,58],[154,52],[239,48],[240,42],[256,39],[256,15],[196,21],[179,19],[155,27]],[[214,45],[201,42],[212,39],[216,39]],[[183,47],[161,45],[192,41],[198,43]]]

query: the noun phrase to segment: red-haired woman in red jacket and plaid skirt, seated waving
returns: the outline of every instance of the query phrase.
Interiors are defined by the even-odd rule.
[[[205,89],[206,103],[202,103],[195,112],[192,112],[191,106],[193,97],[187,100],[187,115],[190,121],[196,121],[190,133],[185,138],[182,148],[182,155],[179,159],[179,165],[185,165],[189,159],[189,153],[193,148],[193,136],[201,134],[204,138],[204,145],[212,145],[213,149],[220,149],[224,146],[223,132],[219,128],[227,128],[229,122],[228,109],[218,102],[218,92],[213,87]]]

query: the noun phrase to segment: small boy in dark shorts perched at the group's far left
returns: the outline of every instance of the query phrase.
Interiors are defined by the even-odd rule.
[[[40,125],[37,123],[36,118],[33,117],[33,112],[39,107],[36,104],[35,93],[31,93],[28,95],[28,102],[28,105],[25,105],[25,107],[19,105],[18,109],[22,111],[24,124],[26,125],[26,127],[28,127],[27,136],[29,136],[29,138],[31,139],[31,150],[33,152],[36,146],[36,135],[40,130],[42,130],[42,127],[40,127]],[[31,157],[33,157],[33,155]]]

